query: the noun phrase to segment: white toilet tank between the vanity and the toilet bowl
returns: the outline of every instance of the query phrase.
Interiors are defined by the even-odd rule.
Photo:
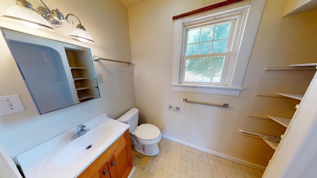
[[[139,110],[137,108],[131,108],[128,112],[119,117],[117,121],[130,125],[129,132],[132,133],[139,122]]]

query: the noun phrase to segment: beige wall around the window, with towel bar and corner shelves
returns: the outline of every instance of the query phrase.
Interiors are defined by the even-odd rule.
[[[266,166],[273,149],[241,135],[243,129],[280,136],[285,128],[247,114],[292,117],[298,101],[256,96],[256,92],[305,92],[314,72],[264,71],[266,66],[316,62],[317,12],[282,17],[284,0],[266,0],[240,96],[171,90],[172,16],[220,0],[147,0],[128,8],[137,108],[143,123],[209,150]],[[230,109],[184,103],[183,98],[224,103]],[[179,106],[179,111],[168,110]]]

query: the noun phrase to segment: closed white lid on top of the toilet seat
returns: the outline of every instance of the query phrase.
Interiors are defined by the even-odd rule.
[[[152,124],[141,124],[134,134],[143,140],[153,140],[159,137],[160,131]]]

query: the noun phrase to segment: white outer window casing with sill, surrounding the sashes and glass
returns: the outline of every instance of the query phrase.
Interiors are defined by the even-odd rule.
[[[224,95],[240,95],[265,0],[243,0],[174,21],[172,90]],[[242,15],[242,16],[241,16]],[[233,45],[223,85],[182,83],[186,28],[237,17]],[[237,70],[236,70],[237,69]]]

